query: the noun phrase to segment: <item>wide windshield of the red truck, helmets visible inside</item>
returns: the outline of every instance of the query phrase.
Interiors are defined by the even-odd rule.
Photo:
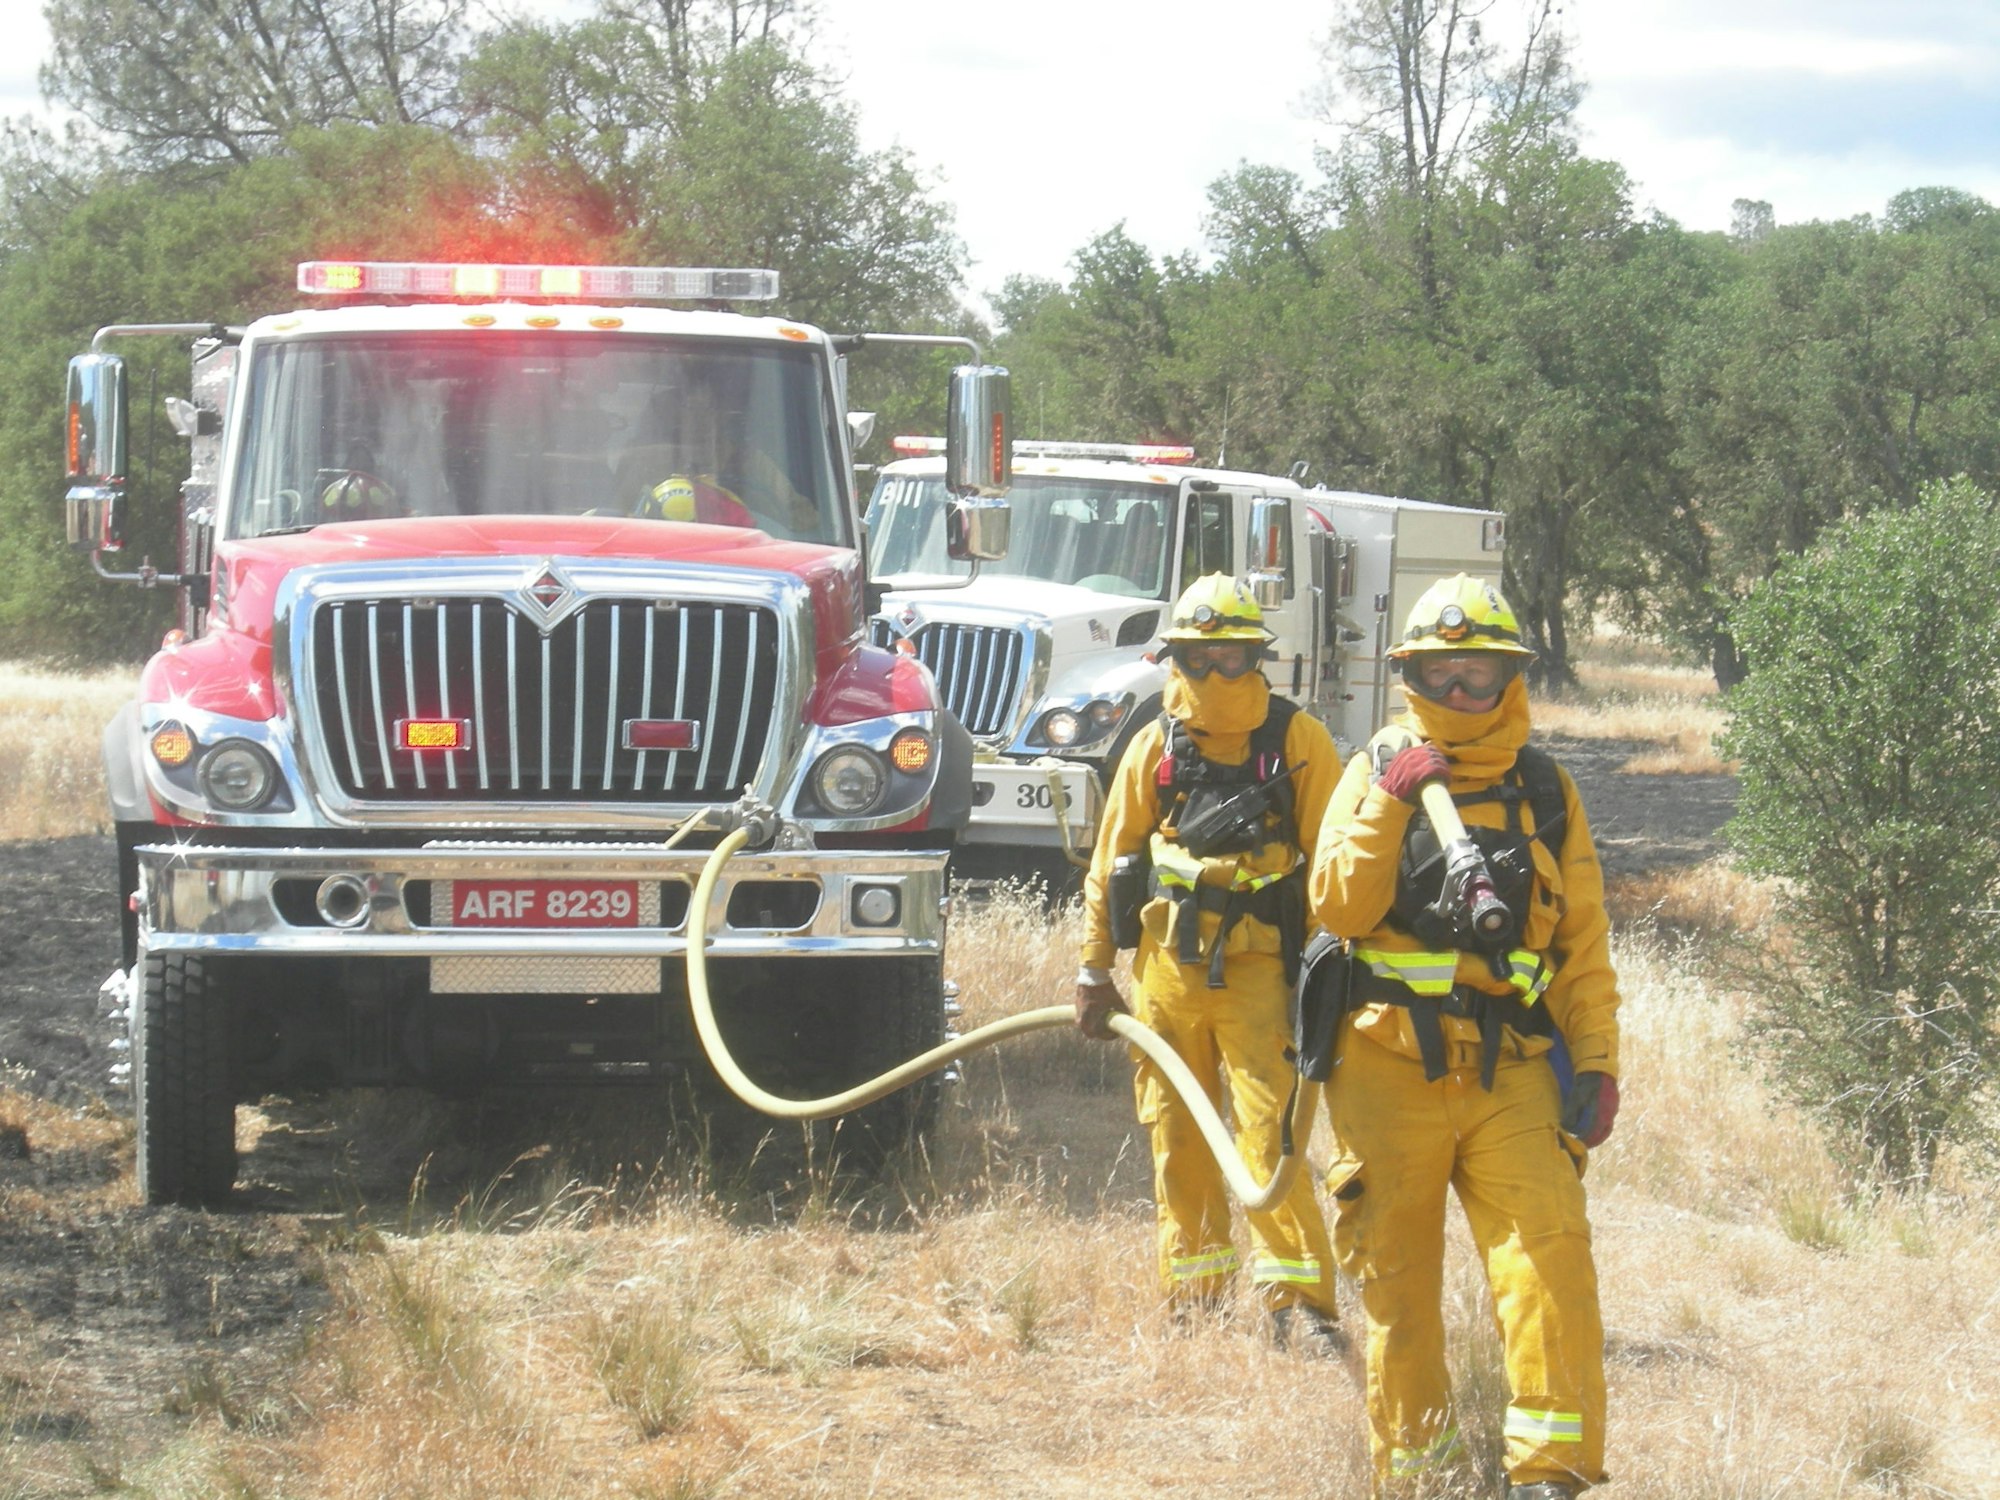
[[[538,330],[268,344],[226,536],[384,516],[638,516],[848,540],[810,350]]]

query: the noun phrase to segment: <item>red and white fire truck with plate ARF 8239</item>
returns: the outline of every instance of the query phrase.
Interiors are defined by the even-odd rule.
[[[112,326],[70,366],[70,542],[182,602],[104,738],[142,1194],[224,1198],[234,1106],[274,1088],[706,1074],[704,936],[774,1088],[938,1044],[972,748],[866,640],[846,356],[966,340],[724,310],[776,296],[764,270],[314,262],[298,290],[326,306]],[[106,344],[154,334],[194,354],[180,556],[120,574]],[[954,372],[950,422],[942,546],[998,556],[1006,372]]]

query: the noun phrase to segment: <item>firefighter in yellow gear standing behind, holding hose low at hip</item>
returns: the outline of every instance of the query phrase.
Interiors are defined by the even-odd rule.
[[[1228,1080],[1236,1142],[1258,1176],[1278,1162],[1304,874],[1340,774],[1326,728],[1272,698],[1258,670],[1268,642],[1254,596],[1226,574],[1196,580],[1176,602],[1164,632],[1166,714],[1134,736],[1098,826],[1076,986],[1078,1024],[1108,1040],[1106,1014],[1124,1010],[1110,964],[1136,946],[1138,1018],[1218,1108]],[[1210,1304],[1240,1268],[1222,1172],[1156,1066],[1138,1050],[1132,1058],[1138,1118],[1152,1134],[1160,1274],[1176,1306]],[[1248,1220],[1250,1280],[1278,1340],[1338,1352],[1332,1248],[1310,1174]]]

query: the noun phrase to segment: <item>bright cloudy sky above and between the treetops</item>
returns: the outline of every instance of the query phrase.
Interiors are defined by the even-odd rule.
[[[578,0],[532,0],[574,14]],[[1520,0],[1494,0],[1512,40]],[[1200,250],[1208,184],[1238,162],[1312,174],[1330,128],[1330,0],[822,0],[822,48],[870,146],[902,144],[958,208],[970,286],[1062,278],[1124,222]],[[0,112],[40,106],[40,0],[0,0]],[[1880,214],[1904,188],[2000,202],[1996,0],[1566,0],[1584,148],[1642,210],[1726,228]]]

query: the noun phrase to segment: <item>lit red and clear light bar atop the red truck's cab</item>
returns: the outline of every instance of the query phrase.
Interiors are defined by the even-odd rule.
[[[482,266],[426,260],[304,260],[298,290],[346,296],[562,296],[594,302],[768,302],[774,270],[682,266]]]

